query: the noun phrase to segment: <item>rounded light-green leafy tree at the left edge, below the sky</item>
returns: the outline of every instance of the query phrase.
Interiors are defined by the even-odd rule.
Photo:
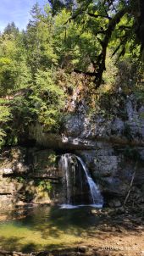
[[[26,64],[25,48],[13,34],[0,38],[0,94],[27,86],[30,70]]]

